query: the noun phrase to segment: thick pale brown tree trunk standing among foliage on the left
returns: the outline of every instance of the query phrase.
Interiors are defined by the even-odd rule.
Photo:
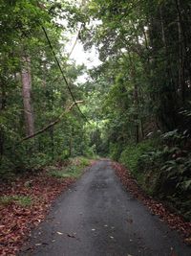
[[[21,80],[26,135],[31,136],[34,133],[34,120],[32,110],[32,73],[31,58],[27,56],[22,57]]]

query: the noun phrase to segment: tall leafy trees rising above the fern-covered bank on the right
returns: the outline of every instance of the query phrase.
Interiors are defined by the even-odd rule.
[[[180,115],[190,101],[188,1],[92,0],[88,7],[101,22],[90,24],[82,40],[96,44],[103,61],[91,78],[102,84],[111,147],[157,130],[189,129],[188,116]]]

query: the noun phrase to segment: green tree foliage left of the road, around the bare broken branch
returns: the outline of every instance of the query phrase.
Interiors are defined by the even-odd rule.
[[[39,170],[45,165],[76,155],[91,155],[85,121],[76,109],[65,116],[56,127],[24,142],[24,95],[22,92],[22,58],[30,57],[28,72],[32,76],[34,130],[52,123],[71,105],[70,94],[61,78],[42,26],[53,50],[69,77],[74,98],[84,95],[76,79],[84,67],[67,63],[64,46],[68,38],[63,31],[76,31],[84,15],[74,3],[62,1],[1,1],[0,4],[0,176],[11,177],[26,170]],[[58,21],[59,20],[59,21]],[[65,25],[63,25],[65,24]],[[68,78],[67,78],[68,79]],[[78,84],[79,85],[79,84]]]

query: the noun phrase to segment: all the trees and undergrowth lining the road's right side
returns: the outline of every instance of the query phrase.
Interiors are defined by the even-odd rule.
[[[119,159],[144,189],[185,216],[190,214],[190,8],[187,0],[92,0],[89,13],[98,22],[84,27],[81,37],[87,49],[96,45],[102,61],[87,82],[102,106],[93,111],[100,128],[92,138],[96,151]]]

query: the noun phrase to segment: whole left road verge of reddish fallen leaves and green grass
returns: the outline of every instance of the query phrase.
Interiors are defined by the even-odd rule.
[[[2,183],[0,254],[15,255],[32,227],[45,219],[54,199],[84,174],[92,163],[84,157],[76,157],[38,172],[17,175]]]

